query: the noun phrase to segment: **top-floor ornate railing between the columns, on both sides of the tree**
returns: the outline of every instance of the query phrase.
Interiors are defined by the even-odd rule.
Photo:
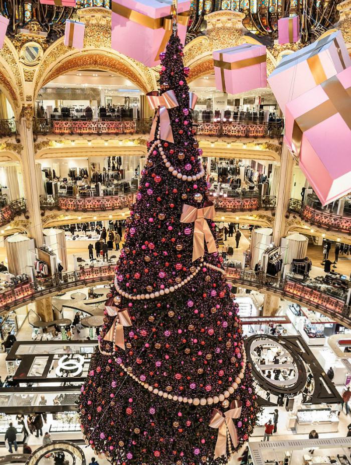
[[[151,119],[48,119],[34,118],[34,134],[146,134],[151,129]],[[281,138],[281,122],[261,121],[194,121],[198,135],[244,138]]]

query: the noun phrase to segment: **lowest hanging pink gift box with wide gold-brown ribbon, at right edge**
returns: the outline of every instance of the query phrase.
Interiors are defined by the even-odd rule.
[[[285,141],[322,205],[351,191],[351,67],[286,105]]]

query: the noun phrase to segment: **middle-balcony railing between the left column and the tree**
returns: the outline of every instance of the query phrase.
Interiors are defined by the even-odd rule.
[[[133,203],[136,190],[127,194],[108,197],[69,197],[59,195],[41,195],[42,209],[57,209],[71,212],[105,211],[128,208]]]

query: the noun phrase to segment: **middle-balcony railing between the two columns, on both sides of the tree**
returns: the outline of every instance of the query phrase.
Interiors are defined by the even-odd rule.
[[[40,207],[44,210],[57,209],[65,211],[105,211],[118,208],[129,208],[133,203],[135,190],[127,194],[106,197],[71,197],[61,195],[41,195]],[[252,212],[255,210],[274,210],[275,196],[242,196],[214,197],[211,196],[218,211]]]

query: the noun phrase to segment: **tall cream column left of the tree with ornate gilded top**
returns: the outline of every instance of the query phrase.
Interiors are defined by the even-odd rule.
[[[28,233],[30,237],[35,239],[36,246],[40,247],[43,245],[43,232],[40,213],[40,192],[36,181],[31,105],[24,105],[22,107],[19,132],[23,144],[21,154],[23,184],[30,217]]]

